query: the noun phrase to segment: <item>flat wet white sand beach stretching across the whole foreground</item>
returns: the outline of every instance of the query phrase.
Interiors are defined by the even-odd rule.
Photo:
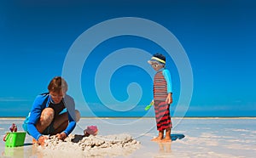
[[[32,137],[27,134],[24,146],[5,147],[3,142],[5,132],[9,131],[12,123],[16,123],[18,131],[22,131],[22,121],[23,118],[0,119],[1,157],[75,155],[76,157],[241,158],[256,155],[256,118],[172,118],[175,125],[172,134],[185,135],[185,138],[174,140],[172,143],[150,141],[157,136],[154,118],[82,118],[69,140],[55,144],[54,148],[32,145]],[[84,128],[91,125],[98,127],[98,135],[79,138],[83,135]],[[79,141],[84,141],[84,147],[83,142],[70,143],[75,136]],[[105,146],[100,147],[101,144]]]

